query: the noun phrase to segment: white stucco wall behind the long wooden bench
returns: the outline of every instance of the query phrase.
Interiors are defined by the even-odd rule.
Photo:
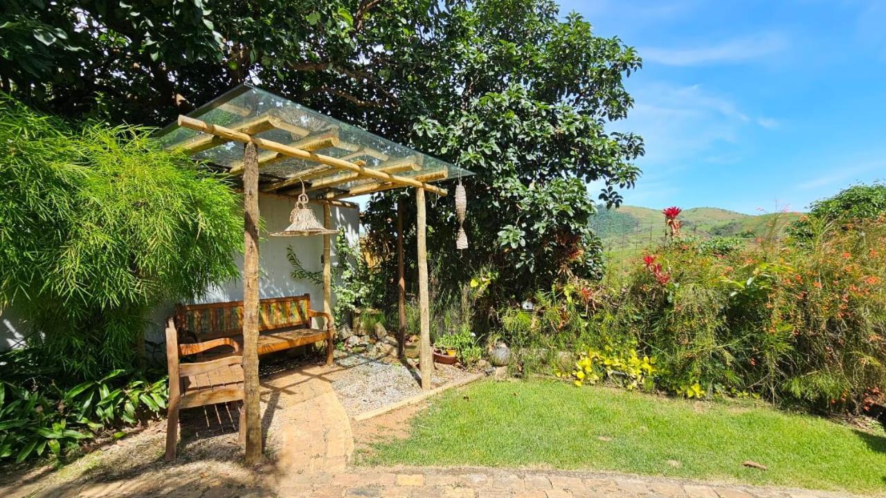
[[[284,230],[289,225],[289,214],[292,201],[285,198],[269,196],[259,197],[259,210],[264,221],[264,230],[259,242],[259,295],[260,298],[275,298],[311,294],[311,306],[323,310],[323,286],[311,282],[295,280],[291,277],[292,265],[286,258],[287,248],[292,246],[299,256],[302,266],[308,271],[323,269],[323,237],[268,237],[268,232]],[[317,220],[323,222],[323,206],[311,205]],[[359,237],[359,212],[356,209],[332,207],[332,227],[346,227],[346,234],[351,244]],[[334,236],[333,236],[334,237]],[[243,268],[243,256],[237,255],[237,267]],[[332,265],[338,264],[335,246],[332,247]],[[243,299],[243,280],[237,278],[219,287],[206,290],[202,296],[191,300],[191,303],[206,303]],[[335,295],[332,300],[334,302]],[[175,303],[167,303],[154,310],[146,323],[145,339],[152,342],[163,341],[163,324],[166,317],[172,314]],[[190,303],[189,303],[190,304]],[[14,310],[0,310],[0,349],[8,349],[19,343],[27,332],[27,325],[15,315]]]

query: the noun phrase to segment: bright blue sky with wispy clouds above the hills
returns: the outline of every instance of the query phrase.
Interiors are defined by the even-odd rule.
[[[804,210],[886,179],[886,1],[561,5],[643,58],[612,127],[646,141],[626,204]]]

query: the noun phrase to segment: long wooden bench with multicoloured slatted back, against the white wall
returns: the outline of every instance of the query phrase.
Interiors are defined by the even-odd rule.
[[[323,329],[312,328],[313,318],[323,318]],[[243,345],[243,301],[179,305],[175,328],[183,354],[189,342],[234,338]],[[332,321],[311,309],[310,294],[259,300],[259,355],[326,341],[326,364],[332,363]]]

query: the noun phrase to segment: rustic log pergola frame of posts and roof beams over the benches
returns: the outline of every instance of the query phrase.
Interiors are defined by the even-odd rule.
[[[242,91],[235,89],[232,91]],[[224,96],[222,96],[224,97]],[[220,97],[221,99],[221,97]],[[219,99],[216,99],[219,100]],[[389,152],[378,150],[368,144],[352,144],[341,140],[338,126],[327,126],[312,131],[281,119],[271,111],[250,117],[254,111],[229,101],[210,103],[209,108],[221,109],[242,117],[240,121],[222,126],[180,115],[176,121],[179,128],[199,132],[167,148],[188,154],[200,154],[214,147],[227,146],[231,142],[245,144],[243,160],[235,160],[223,168],[229,175],[239,176],[243,182],[245,216],[244,252],[244,316],[243,316],[243,367],[245,377],[245,461],[255,464],[261,458],[261,424],[259,405],[259,203],[260,195],[277,198],[291,198],[287,189],[307,183],[307,191],[315,194],[310,202],[323,206],[323,226],[331,229],[330,210],[332,206],[356,208],[354,203],[343,200],[359,195],[388,191],[397,188],[416,189],[416,245],[418,261],[418,298],[420,310],[420,349],[419,362],[421,385],[431,389],[433,358],[431,352],[430,303],[428,302],[428,263],[426,246],[425,192],[446,196],[447,190],[432,182],[451,177],[448,167],[428,168],[426,156],[415,152],[400,157],[392,157]],[[195,112],[196,113],[196,112]],[[343,125],[346,126],[346,125]],[[276,136],[291,136],[289,143],[282,143],[259,136],[268,132]],[[366,133],[366,132],[364,132]],[[379,140],[382,140],[379,138]],[[403,148],[402,146],[398,146]],[[333,156],[317,151],[340,150],[347,152]],[[331,151],[330,151],[331,152]],[[366,160],[358,159],[366,158]],[[295,159],[314,166],[296,171],[288,178],[260,186],[260,177],[265,167],[280,161]],[[374,167],[369,161],[374,161]],[[440,162],[439,160],[433,160]],[[445,163],[444,163],[445,164]],[[451,166],[451,165],[450,165]],[[453,167],[455,168],[455,167]],[[469,174],[458,170],[459,175]],[[408,174],[404,175],[404,174]],[[403,206],[398,203],[398,259],[399,259],[399,315],[400,315],[400,354],[405,340],[405,279],[403,255]],[[332,313],[331,306],[331,235],[323,235],[323,311]]]

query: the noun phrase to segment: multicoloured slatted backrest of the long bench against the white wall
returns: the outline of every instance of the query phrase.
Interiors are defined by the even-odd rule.
[[[310,327],[310,308],[310,294],[259,300],[259,331]],[[175,329],[198,342],[242,334],[243,301],[177,305]]]

